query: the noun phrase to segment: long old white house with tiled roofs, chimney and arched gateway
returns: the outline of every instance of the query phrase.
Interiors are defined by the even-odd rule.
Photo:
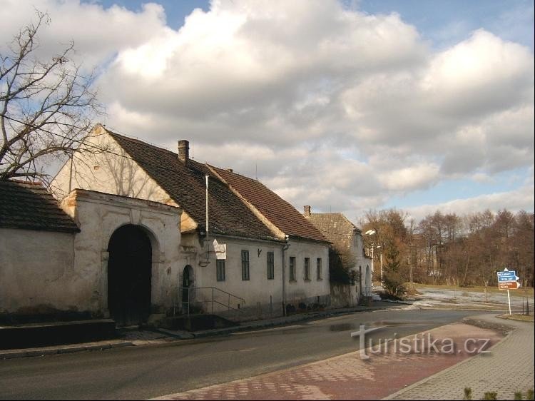
[[[258,181],[193,161],[187,141],[177,154],[100,125],[81,150],[51,188],[81,228],[91,310],[128,324],[147,310],[263,318],[330,304],[328,240]]]

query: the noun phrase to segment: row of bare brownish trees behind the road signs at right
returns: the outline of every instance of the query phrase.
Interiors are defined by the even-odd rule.
[[[486,210],[470,215],[437,210],[418,223],[400,210],[372,210],[360,221],[365,248],[374,247],[375,276],[459,286],[496,285],[496,271],[516,270],[534,285],[534,213]],[[396,281],[396,280],[394,280]]]

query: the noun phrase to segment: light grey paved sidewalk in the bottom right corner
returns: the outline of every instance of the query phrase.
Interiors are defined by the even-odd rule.
[[[534,388],[534,324],[477,316],[491,324],[515,329],[491,349],[454,367],[427,377],[384,400],[462,400],[464,387],[472,388],[472,399],[482,400],[485,392],[497,392],[498,400],[514,400],[514,392]]]

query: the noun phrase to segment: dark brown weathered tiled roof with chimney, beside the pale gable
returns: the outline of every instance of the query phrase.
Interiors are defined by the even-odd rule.
[[[108,133],[198,223],[199,228],[205,228],[205,175],[208,175],[210,233],[277,239],[245,203],[204,164],[190,159],[185,166],[178,159],[177,153],[111,131]]]

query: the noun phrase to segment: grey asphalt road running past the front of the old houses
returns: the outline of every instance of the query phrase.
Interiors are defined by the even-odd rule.
[[[204,340],[0,360],[0,399],[147,399],[358,350],[350,333],[360,324],[388,326],[370,337],[402,337],[467,315],[474,311],[376,310]]]

